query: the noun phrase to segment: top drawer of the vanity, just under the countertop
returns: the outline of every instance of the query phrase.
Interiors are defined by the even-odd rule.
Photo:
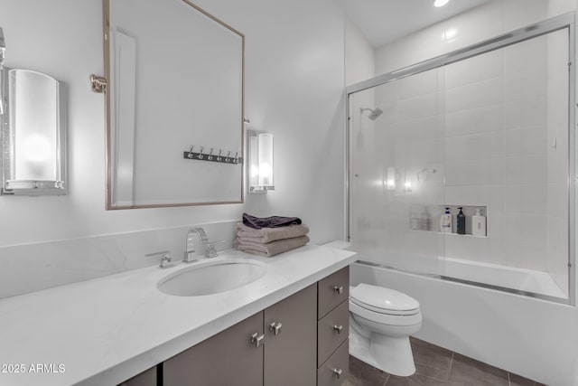
[[[327,315],[343,300],[350,297],[350,267],[345,267],[322,278],[317,287],[317,319]]]

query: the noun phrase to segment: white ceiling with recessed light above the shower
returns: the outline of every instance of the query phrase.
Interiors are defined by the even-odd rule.
[[[345,14],[379,47],[408,33],[439,23],[489,0],[450,0],[434,7],[434,0],[345,0]]]

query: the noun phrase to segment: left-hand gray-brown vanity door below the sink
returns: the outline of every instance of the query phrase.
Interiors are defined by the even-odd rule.
[[[262,386],[263,312],[250,316],[163,363],[164,386]]]

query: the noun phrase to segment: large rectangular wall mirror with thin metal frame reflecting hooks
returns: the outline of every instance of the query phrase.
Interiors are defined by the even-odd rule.
[[[187,0],[104,0],[107,209],[243,202],[242,33]]]

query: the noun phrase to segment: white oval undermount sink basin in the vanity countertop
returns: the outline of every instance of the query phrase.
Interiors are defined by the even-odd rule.
[[[265,274],[265,264],[259,261],[209,260],[172,273],[161,279],[157,287],[167,295],[200,297],[245,286]]]

